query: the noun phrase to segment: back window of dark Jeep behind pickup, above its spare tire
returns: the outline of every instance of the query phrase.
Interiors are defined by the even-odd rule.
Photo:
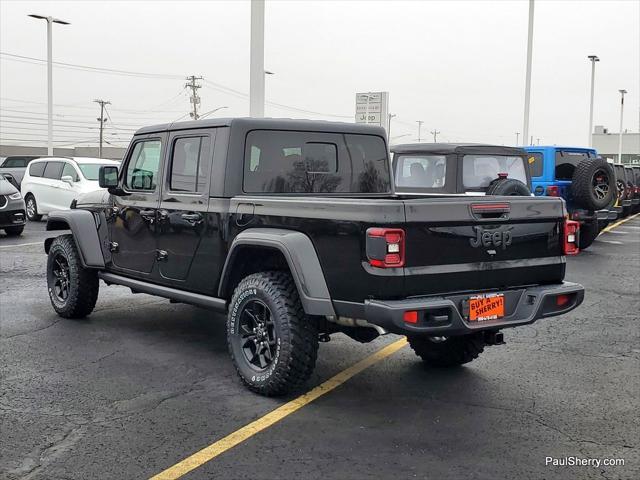
[[[465,155],[462,159],[462,183],[467,190],[486,190],[493,180],[499,178],[499,173],[506,173],[507,178],[520,180],[527,185],[523,157]]]

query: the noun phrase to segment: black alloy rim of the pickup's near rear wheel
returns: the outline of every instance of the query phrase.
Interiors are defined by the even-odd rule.
[[[278,343],[271,310],[261,300],[250,300],[240,313],[239,327],[245,359],[256,370],[267,370],[275,358]]]

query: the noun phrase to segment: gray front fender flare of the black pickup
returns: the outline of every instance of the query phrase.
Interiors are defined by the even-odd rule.
[[[100,248],[98,227],[93,214],[87,210],[58,210],[48,214],[47,230],[71,230],[76,247],[80,252],[82,266],[104,268],[104,257]],[[53,238],[44,242],[44,250],[49,253]]]

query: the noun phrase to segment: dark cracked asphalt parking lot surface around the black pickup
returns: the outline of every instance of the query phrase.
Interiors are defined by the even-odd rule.
[[[57,317],[46,236],[0,234],[0,478],[149,478],[296,398],[248,392],[206,310],[102,284],[90,318]],[[183,478],[640,478],[640,216],[567,279],[587,289],[570,314],[455,370],[400,348]],[[398,339],[335,335],[309,388]]]

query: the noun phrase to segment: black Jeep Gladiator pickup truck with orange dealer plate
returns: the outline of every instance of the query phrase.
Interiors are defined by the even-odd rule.
[[[91,313],[99,279],[225,312],[238,374],[265,395],[304,383],[332,333],[403,334],[454,366],[584,297],[563,281],[579,232],[562,199],[397,195],[378,127],[146,127],[100,184],[49,215],[72,232],[45,241],[56,312]]]

